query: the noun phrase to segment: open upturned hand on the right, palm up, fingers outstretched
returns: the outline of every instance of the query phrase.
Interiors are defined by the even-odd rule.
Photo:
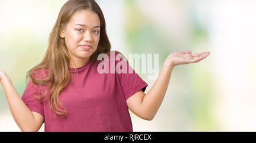
[[[189,63],[197,63],[208,57],[210,54],[209,51],[191,54],[191,51],[176,51],[168,55],[166,60],[169,60],[172,66],[177,66],[179,64],[189,64]]]

